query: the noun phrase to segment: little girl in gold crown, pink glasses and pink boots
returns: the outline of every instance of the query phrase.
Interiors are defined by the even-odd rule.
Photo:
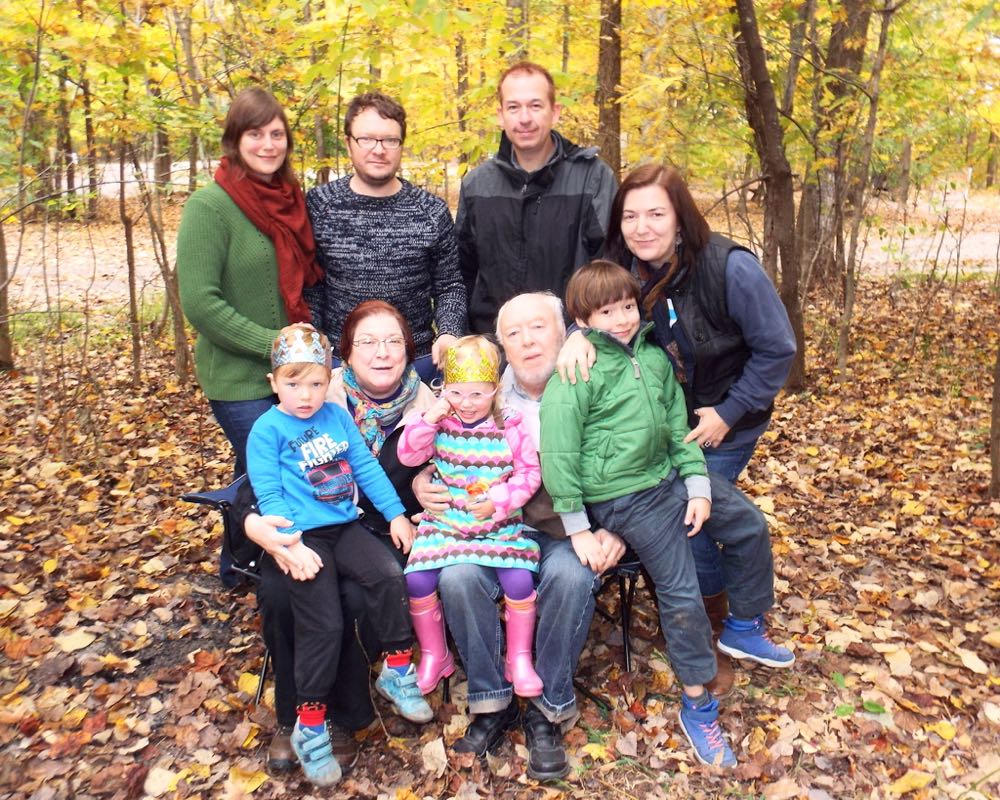
[[[441,397],[406,425],[399,443],[403,464],[432,459],[437,480],[451,493],[446,511],[424,512],[404,570],[424,694],[455,671],[437,595],[441,570],[453,564],[496,570],[506,607],[507,680],[522,697],[542,693],[531,653],[539,549],[521,524],[521,507],[541,485],[541,469],[521,416],[504,416],[499,388],[496,345],[482,336],[459,339],[444,359]]]

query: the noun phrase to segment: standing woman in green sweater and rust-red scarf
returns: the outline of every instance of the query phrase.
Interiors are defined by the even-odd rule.
[[[289,323],[310,321],[302,290],[321,271],[288,160],[288,120],[273,95],[258,88],[237,95],[222,150],[215,182],[184,206],[177,275],[184,314],[198,331],[198,382],[242,475],[250,428],[275,400],[271,343]]]

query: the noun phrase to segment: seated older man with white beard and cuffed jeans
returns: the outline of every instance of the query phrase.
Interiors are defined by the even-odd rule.
[[[566,336],[562,303],[547,293],[522,294],[497,316],[497,339],[508,368],[502,380],[504,405],[519,412],[536,446],[542,392],[556,367]],[[430,483],[425,473],[415,482],[417,497],[429,510],[444,510],[447,488]],[[528,775],[561,778],[569,771],[562,745],[562,723],[576,718],[573,675],[594,615],[599,575],[618,563],[622,540],[598,530],[567,538],[544,489],[524,508],[525,524],[541,548],[538,572],[538,622],[535,669],[544,691],[531,698],[522,724],[527,740]],[[492,569],[476,565],[446,567],[438,587],[448,627],[469,679],[469,710],[475,719],[455,750],[485,754],[519,717],[519,705],[503,674],[500,615],[502,590]]]

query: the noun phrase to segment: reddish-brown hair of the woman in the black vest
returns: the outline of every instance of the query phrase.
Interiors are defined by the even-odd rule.
[[[698,254],[708,244],[712,230],[698,210],[691,196],[691,190],[688,189],[681,174],[665,164],[643,164],[632,170],[622,181],[615,199],[611,202],[611,219],[608,222],[608,235],[604,240],[604,255],[624,267],[631,266],[633,256],[625,244],[625,237],[622,236],[622,209],[625,207],[625,198],[633,189],[654,185],[662,187],[667,193],[667,199],[670,200],[670,205],[677,215],[677,231],[684,242],[678,266],[693,267]]]

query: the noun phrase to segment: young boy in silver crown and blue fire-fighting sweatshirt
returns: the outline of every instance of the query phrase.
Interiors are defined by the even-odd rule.
[[[389,522],[393,542],[403,552],[409,552],[414,531],[354,420],[339,405],[326,402],[326,337],[306,325],[284,328],[271,349],[271,368],[268,378],[278,404],[250,431],[247,474],[260,513],[292,520],[288,533],[303,531],[289,550],[306,548],[322,563],[311,580],[289,582],[298,691],[291,740],[306,777],[330,786],[341,777],[325,724],[343,638],[339,576],[365,590],[367,615],[388,652],[375,684],[379,693],[407,719],[428,722],[433,717],[411,663],[406,582],[395,560],[384,558],[385,546],[358,522],[357,487]]]

